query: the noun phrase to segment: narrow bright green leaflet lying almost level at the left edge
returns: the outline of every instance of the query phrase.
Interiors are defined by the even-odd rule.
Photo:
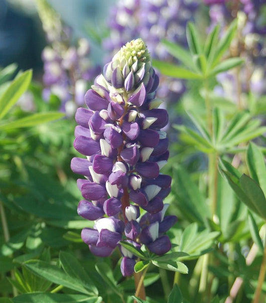
[[[48,112],[48,113],[37,113],[32,114],[27,117],[18,119],[12,122],[5,122],[0,125],[0,130],[10,130],[24,127],[32,127],[41,123],[46,123],[50,121],[54,121],[64,117],[63,113],[57,112]]]

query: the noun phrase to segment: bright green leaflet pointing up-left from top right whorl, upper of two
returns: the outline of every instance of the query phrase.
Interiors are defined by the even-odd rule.
[[[179,61],[181,61],[185,66],[195,69],[195,66],[192,61],[192,57],[187,49],[181,47],[178,44],[173,42],[162,40],[162,44],[165,46],[166,50]]]

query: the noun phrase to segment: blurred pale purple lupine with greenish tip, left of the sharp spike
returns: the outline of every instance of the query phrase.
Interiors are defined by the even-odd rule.
[[[71,29],[62,24],[60,16],[45,0],[37,0],[37,7],[49,44],[42,51],[43,99],[48,101],[51,95],[57,96],[60,110],[72,116],[83,104],[89,83],[100,70],[88,57],[88,41],[81,38],[76,46],[71,45]]]

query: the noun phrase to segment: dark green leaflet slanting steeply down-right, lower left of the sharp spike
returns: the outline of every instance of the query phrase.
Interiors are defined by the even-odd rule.
[[[98,296],[98,290],[89,278],[83,267],[73,255],[60,251],[59,260],[65,273],[83,284],[83,286],[91,293]]]

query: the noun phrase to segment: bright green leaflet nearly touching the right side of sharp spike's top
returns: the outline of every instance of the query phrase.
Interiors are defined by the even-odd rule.
[[[154,67],[158,68],[159,71],[166,76],[179,79],[202,79],[201,74],[197,74],[186,68],[179,67],[172,63],[167,63],[159,60],[152,60],[152,63]]]

